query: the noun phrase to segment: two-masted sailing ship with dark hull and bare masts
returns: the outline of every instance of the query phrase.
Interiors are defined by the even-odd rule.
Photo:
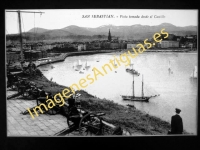
[[[150,99],[151,97],[157,96],[157,95],[155,95],[155,96],[144,96],[144,90],[143,90],[143,88],[144,88],[143,75],[142,75],[142,95],[141,95],[141,97],[135,96],[135,91],[134,91],[134,75],[135,75],[135,74],[133,74],[133,95],[132,95],[132,96],[121,95],[122,98],[123,98],[123,100],[138,101],[138,102],[149,102],[149,99]],[[138,76],[139,76],[139,75],[138,75]]]

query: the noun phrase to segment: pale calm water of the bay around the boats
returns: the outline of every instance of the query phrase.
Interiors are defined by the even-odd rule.
[[[197,79],[190,78],[194,66],[197,66],[197,54],[143,53],[132,59],[134,69],[140,73],[140,76],[134,77],[135,95],[141,96],[142,74],[144,95],[160,94],[159,97],[151,98],[149,103],[122,100],[120,95],[133,93],[133,76],[125,70],[128,66],[122,63],[112,71],[107,69],[107,74],[101,68],[105,63],[109,63],[114,55],[119,58],[119,53],[67,57],[64,62],[55,63],[53,69],[50,66],[42,66],[41,69],[48,70],[43,71],[48,79],[53,77],[53,81],[70,86],[73,83],[78,84],[81,78],[86,79],[88,74],[94,78],[92,68],[96,67],[104,76],[98,75],[97,80],[92,84],[86,79],[88,86],[84,90],[97,97],[107,98],[123,105],[134,104],[136,108],[168,122],[175,114],[175,108],[179,107],[182,110],[180,115],[183,118],[184,129],[197,133]],[[82,66],[77,69],[79,60]],[[90,64],[87,69],[84,67],[86,62]]]

